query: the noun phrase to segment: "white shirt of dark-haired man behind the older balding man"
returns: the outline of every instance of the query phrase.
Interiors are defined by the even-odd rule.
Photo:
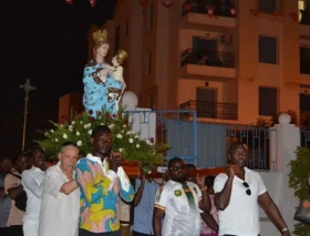
[[[38,167],[22,172],[21,184],[27,193],[27,207],[23,220],[39,220],[44,172]]]

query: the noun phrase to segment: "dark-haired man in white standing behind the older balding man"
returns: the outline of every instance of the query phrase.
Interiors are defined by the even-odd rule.
[[[41,147],[34,147],[30,152],[32,168],[22,173],[21,184],[27,193],[27,207],[23,217],[23,235],[38,236],[41,196],[45,170],[45,153]]]

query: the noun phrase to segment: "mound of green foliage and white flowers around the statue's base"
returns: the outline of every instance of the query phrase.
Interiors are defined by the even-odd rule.
[[[95,117],[93,112],[84,112],[72,116],[71,121],[63,124],[53,123],[54,129],[45,131],[44,140],[35,141],[50,156],[50,160],[56,160],[62,143],[75,142],[84,153],[92,153],[90,143],[92,130],[97,125],[107,125],[113,136],[113,151],[122,152],[124,160],[140,161],[144,172],[149,172],[154,165],[162,165],[165,161],[164,151],[168,148],[166,144],[154,143],[154,138],[141,140],[140,133],[132,132],[132,125],[128,123],[128,113],[120,109],[117,114],[112,115],[108,112],[97,112]]]

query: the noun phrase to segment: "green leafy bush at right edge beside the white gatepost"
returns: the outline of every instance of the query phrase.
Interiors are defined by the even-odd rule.
[[[300,202],[308,199],[309,191],[307,178],[310,173],[310,150],[306,147],[297,148],[297,158],[289,163],[291,172],[289,174],[289,187],[294,191],[294,196]],[[293,234],[310,236],[310,226],[301,223],[294,225]]]

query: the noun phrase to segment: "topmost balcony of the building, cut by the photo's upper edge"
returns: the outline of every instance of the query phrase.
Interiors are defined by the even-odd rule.
[[[205,25],[235,28],[235,3],[230,0],[187,0],[182,7],[182,28],[202,30]]]

